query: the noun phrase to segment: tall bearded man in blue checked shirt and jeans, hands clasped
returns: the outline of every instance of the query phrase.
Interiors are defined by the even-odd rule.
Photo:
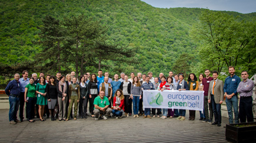
[[[230,66],[228,67],[228,73],[230,73],[230,76],[225,79],[224,83],[224,95],[226,97],[226,105],[228,110],[228,121],[230,124],[233,124],[233,111],[232,108],[234,108],[234,114],[235,114],[235,124],[237,124],[238,121],[238,96],[237,96],[237,87],[241,81],[240,77],[235,75],[235,67]]]

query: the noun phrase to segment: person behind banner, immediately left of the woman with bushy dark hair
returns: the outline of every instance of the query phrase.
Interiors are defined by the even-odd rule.
[[[187,81],[184,80],[184,74],[183,73],[179,73],[179,84],[177,86],[177,90],[179,90],[179,91],[189,90],[188,83],[187,83]],[[184,121],[186,119],[185,115],[186,115],[186,110],[180,109],[179,110],[179,117],[177,118],[177,120]]]

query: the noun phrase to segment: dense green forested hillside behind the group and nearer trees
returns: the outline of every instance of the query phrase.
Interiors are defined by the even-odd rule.
[[[237,51],[238,56],[234,57],[234,59],[230,55],[224,54],[222,57],[215,57],[221,59],[222,62],[204,63],[212,59],[207,59],[207,57],[200,55],[208,54],[203,48],[214,50],[214,47],[216,47],[221,52],[227,50],[227,47],[236,48],[234,45],[244,44],[242,40],[227,44],[230,37],[224,40],[226,49],[223,46],[211,46],[210,43],[205,42],[205,38],[200,33],[197,33],[197,31],[200,31],[200,29],[204,30],[204,28],[208,31],[207,26],[204,27],[204,21],[208,20],[202,18],[202,16],[209,16],[209,13],[214,14],[214,11],[209,11],[208,9],[154,8],[139,0],[1,0],[0,8],[0,63],[2,79],[4,76],[10,76],[10,74],[21,72],[21,70],[26,68],[30,72],[39,73],[44,71],[45,73],[55,74],[59,70],[57,67],[53,67],[51,70],[48,70],[46,67],[43,69],[36,68],[45,66],[47,64],[44,63],[48,62],[44,61],[44,59],[38,61],[44,50],[44,45],[40,44],[42,40],[42,26],[44,26],[43,21],[46,16],[52,16],[52,18],[60,22],[66,21],[67,23],[65,19],[80,15],[85,15],[91,21],[99,22],[102,27],[106,28],[104,42],[107,45],[116,45],[119,49],[129,49],[128,51],[132,52],[133,58],[129,59],[128,62],[120,62],[120,60],[108,58],[101,61],[101,69],[109,71],[111,76],[114,76],[114,73],[125,72],[128,74],[131,71],[141,73],[152,71],[154,76],[158,76],[160,72],[168,74],[169,70],[173,70],[174,73],[180,71],[189,73],[193,71],[198,74],[204,71],[204,68],[207,66],[211,70],[227,71],[227,59],[229,58],[230,64],[233,64],[231,60],[238,61],[235,63],[238,71],[250,70],[250,73],[256,72],[255,68],[251,68],[256,63],[253,56],[255,55],[253,42],[255,42],[256,36],[253,33],[250,33],[251,36],[247,39],[242,39],[247,41],[248,44],[244,45],[244,49]],[[227,22],[234,25],[234,22],[239,23],[240,27],[238,28],[245,27],[243,23],[247,23],[246,26],[251,28],[248,29],[256,33],[255,27],[251,26],[255,25],[256,13],[242,14],[222,11],[215,12],[215,14],[217,14],[217,16],[215,15],[216,19],[218,19],[218,15],[222,15],[222,18],[233,19],[234,21]],[[214,23],[217,21],[216,19],[212,19],[212,25],[217,25],[217,23]],[[230,23],[222,23],[222,25],[227,26]],[[228,29],[232,28],[228,27]],[[232,30],[237,31],[235,28]],[[238,31],[241,32],[241,30]],[[224,30],[219,29],[220,31],[223,32]],[[217,35],[221,35],[221,33]],[[216,39],[220,40],[221,38]],[[237,37],[237,39],[241,39],[241,37]],[[212,43],[212,45],[221,44]],[[222,45],[224,45],[223,42]],[[252,52],[251,56],[240,58],[241,55],[239,53],[242,50],[246,50],[248,45],[251,45],[250,50],[247,50]],[[69,56],[75,56],[72,52],[68,54]],[[105,54],[108,55],[108,53]],[[250,53],[245,54],[248,55]],[[84,64],[82,71],[96,73],[99,66],[99,57],[95,58],[91,63],[77,64]],[[247,58],[250,58],[247,61],[248,63],[246,61],[242,62],[242,60],[239,62],[240,59],[246,60]],[[248,65],[240,66],[243,63],[248,64],[250,67]],[[63,62],[60,65],[62,73],[68,73],[71,70],[79,73],[81,69],[76,69],[75,64],[72,60]],[[220,66],[221,64],[222,66]],[[10,73],[6,73],[8,70]]]

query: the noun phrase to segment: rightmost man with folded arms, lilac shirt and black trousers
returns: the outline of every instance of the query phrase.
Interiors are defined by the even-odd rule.
[[[240,104],[239,104],[239,118],[240,122],[254,122],[254,117],[252,113],[252,91],[254,87],[254,82],[248,79],[248,72],[242,71],[241,77],[242,81],[237,87],[237,92],[240,94]]]

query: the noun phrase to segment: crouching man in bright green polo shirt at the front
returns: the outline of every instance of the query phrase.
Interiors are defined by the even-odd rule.
[[[94,99],[94,115],[95,120],[99,119],[99,114],[102,114],[102,117],[107,120],[106,115],[110,115],[112,109],[108,107],[109,101],[105,97],[104,91],[99,91],[99,96]]]

